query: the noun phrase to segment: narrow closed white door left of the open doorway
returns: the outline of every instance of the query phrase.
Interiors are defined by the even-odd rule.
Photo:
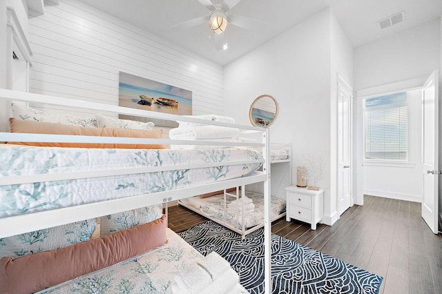
[[[352,94],[338,84],[338,213],[352,205]]]

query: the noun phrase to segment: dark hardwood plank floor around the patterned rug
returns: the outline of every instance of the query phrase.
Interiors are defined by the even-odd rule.
[[[207,219],[169,208],[169,228],[181,232]],[[442,293],[442,237],[421,217],[421,204],[366,195],[333,226],[279,219],[272,232],[384,277],[380,294]]]

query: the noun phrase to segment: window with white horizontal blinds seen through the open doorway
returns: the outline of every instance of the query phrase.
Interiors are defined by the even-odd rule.
[[[365,159],[407,160],[407,92],[365,99]]]

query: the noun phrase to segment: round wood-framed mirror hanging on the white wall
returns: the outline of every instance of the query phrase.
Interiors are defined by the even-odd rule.
[[[253,126],[268,128],[278,115],[278,104],[270,95],[261,95],[250,106],[249,119]]]

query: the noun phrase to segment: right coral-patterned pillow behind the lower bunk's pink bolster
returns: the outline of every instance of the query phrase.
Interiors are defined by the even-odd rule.
[[[103,237],[108,234],[126,230],[126,228],[133,228],[139,224],[147,224],[148,222],[153,222],[155,219],[159,219],[162,215],[162,204],[106,215],[102,217],[100,235]]]

